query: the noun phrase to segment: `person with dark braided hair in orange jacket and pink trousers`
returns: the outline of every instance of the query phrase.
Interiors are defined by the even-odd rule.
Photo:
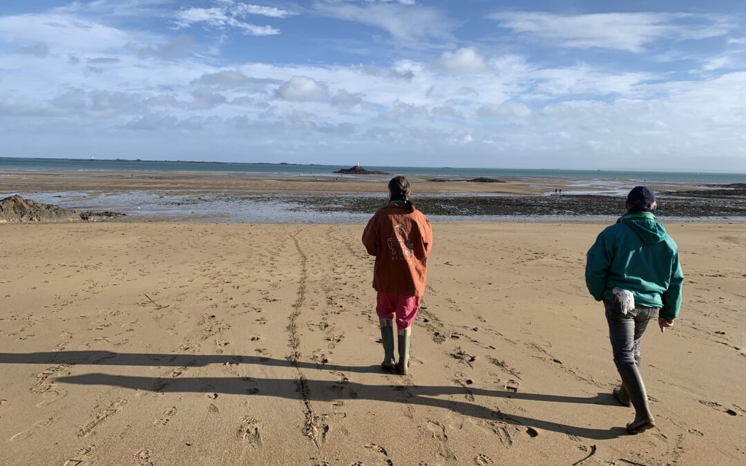
[[[405,177],[389,181],[389,204],[378,210],[363,231],[363,245],[375,256],[373,288],[383,341],[384,371],[408,374],[412,321],[427,278],[427,254],[433,246],[430,221],[410,199]],[[394,358],[394,319],[398,329],[398,365]]]

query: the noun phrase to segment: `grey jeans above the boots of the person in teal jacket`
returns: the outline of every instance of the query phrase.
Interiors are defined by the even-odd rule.
[[[658,317],[658,308],[636,307],[624,315],[619,303],[604,301],[604,307],[606,322],[609,323],[609,340],[614,353],[614,364],[618,368],[639,364],[642,334],[648,328],[648,322]]]

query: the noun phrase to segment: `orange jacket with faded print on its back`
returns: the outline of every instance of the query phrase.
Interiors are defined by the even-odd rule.
[[[433,229],[422,212],[389,204],[375,212],[363,231],[363,245],[375,256],[373,288],[392,295],[421,296]]]

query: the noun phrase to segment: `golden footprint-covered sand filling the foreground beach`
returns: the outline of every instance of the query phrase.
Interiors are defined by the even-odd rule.
[[[361,225],[0,225],[0,458],[745,464],[746,225],[668,225],[683,309],[643,339],[641,435],[583,282],[602,227],[433,224],[401,377],[378,369]]]

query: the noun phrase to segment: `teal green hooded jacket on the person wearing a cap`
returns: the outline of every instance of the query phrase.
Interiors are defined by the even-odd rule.
[[[588,251],[586,286],[597,301],[614,301],[618,286],[635,295],[636,306],[659,307],[659,315],[672,321],[683,280],[677,245],[652,212],[622,215]]]

